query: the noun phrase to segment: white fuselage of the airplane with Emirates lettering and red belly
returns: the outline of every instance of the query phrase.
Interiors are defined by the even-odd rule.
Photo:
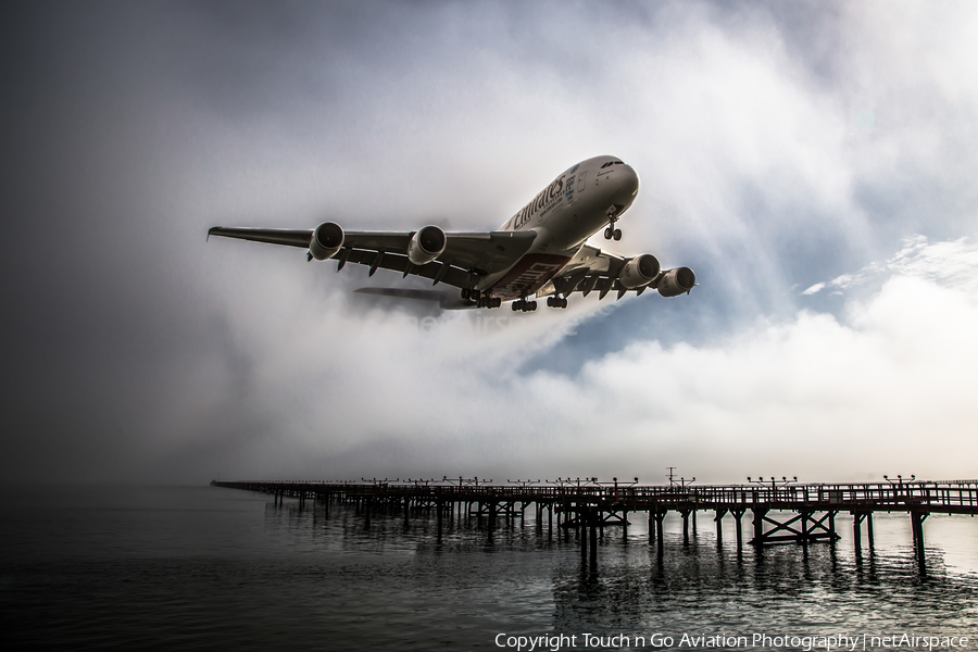
[[[638,189],[638,174],[614,156],[595,156],[566,170],[500,228],[536,231],[532,247],[507,269],[485,276],[478,289],[503,300],[534,296],[612,215],[628,210]]]

